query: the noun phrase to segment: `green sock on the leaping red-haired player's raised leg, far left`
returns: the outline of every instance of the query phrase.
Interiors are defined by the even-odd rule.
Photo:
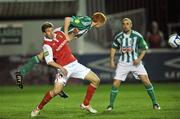
[[[22,76],[25,76],[27,73],[29,73],[33,67],[38,64],[40,60],[37,56],[33,56],[26,64],[21,66],[18,70],[20,71]]]

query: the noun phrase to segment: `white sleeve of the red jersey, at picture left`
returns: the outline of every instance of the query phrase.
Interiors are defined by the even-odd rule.
[[[45,61],[48,64],[49,62],[54,61],[53,60],[53,51],[52,48],[49,45],[44,45],[43,46],[43,53],[45,57]]]

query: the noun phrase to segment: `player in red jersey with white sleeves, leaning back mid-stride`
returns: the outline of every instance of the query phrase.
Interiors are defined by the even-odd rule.
[[[104,22],[92,23],[92,26],[97,25],[97,27],[100,27],[105,21],[106,19],[104,19]],[[46,63],[58,69],[58,73],[56,74],[54,88],[45,94],[41,103],[31,112],[31,117],[37,116],[44,105],[63,90],[70,77],[86,79],[91,82],[80,107],[91,113],[97,113],[90,106],[90,100],[99,85],[100,79],[98,76],[89,68],[78,63],[77,59],[71,53],[65,34],[60,28],[53,31],[53,25],[51,23],[45,23],[42,25],[42,32],[44,34],[43,52]],[[56,62],[53,60],[54,58]]]

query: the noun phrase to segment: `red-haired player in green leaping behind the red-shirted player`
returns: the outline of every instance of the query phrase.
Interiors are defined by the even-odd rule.
[[[95,12],[92,17],[89,16],[72,16],[66,17],[64,26],[59,27],[65,33],[68,41],[79,38],[87,33],[91,28],[99,28],[106,22],[106,16],[101,12]],[[15,73],[16,83],[20,88],[23,88],[23,77],[29,73],[36,64],[39,64],[44,59],[43,52],[33,56],[27,63],[18,68]],[[63,93],[63,92],[62,92]],[[64,96],[64,93],[63,93]]]

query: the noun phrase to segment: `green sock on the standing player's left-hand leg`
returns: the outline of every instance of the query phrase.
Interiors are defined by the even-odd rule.
[[[115,101],[117,94],[118,94],[118,88],[116,88],[115,86],[112,86],[111,93],[110,93],[110,106],[112,106],[112,107],[114,105],[114,101]]]

